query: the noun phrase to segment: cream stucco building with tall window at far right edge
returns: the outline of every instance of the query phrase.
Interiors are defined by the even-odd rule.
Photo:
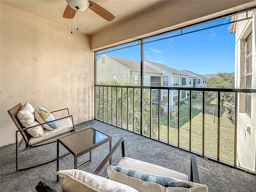
[[[256,89],[256,14],[248,12],[252,19],[230,24],[230,32],[236,34],[235,88]],[[232,16],[231,21],[246,18],[246,13]],[[237,162],[256,171],[256,94],[238,94]]]

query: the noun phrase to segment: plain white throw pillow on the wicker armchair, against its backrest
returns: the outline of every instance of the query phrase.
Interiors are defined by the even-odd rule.
[[[22,106],[22,108],[17,114],[17,117],[24,127],[28,127],[30,126],[30,124],[34,123],[35,121],[34,112],[35,110],[30,103],[26,102]]]

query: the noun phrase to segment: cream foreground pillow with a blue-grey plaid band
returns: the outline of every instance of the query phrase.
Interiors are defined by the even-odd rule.
[[[139,192],[208,192],[206,185],[130,168],[108,166],[107,171],[110,180],[129,185]]]

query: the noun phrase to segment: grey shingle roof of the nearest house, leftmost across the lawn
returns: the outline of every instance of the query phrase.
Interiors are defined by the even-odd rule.
[[[109,58],[122,64],[123,66],[125,66],[126,68],[128,68],[132,71],[140,71],[140,62],[138,62],[138,61],[125,59],[125,58],[121,58],[121,57],[116,57],[116,56],[112,56],[112,55],[106,55],[106,56],[108,56]],[[162,74],[162,72],[154,70],[153,68],[148,67],[146,65],[144,65],[144,72]]]

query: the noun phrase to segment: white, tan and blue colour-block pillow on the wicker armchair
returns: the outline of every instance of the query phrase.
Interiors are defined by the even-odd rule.
[[[40,123],[55,120],[54,116],[50,112],[48,112],[48,110],[41,106],[36,107],[35,118]],[[44,124],[43,127],[46,128],[47,130],[54,130],[58,128],[58,124],[56,122],[50,122]]]

